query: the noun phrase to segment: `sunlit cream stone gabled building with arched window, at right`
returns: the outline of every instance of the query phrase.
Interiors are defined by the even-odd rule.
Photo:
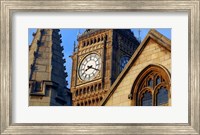
[[[100,105],[171,106],[171,41],[150,30]]]

